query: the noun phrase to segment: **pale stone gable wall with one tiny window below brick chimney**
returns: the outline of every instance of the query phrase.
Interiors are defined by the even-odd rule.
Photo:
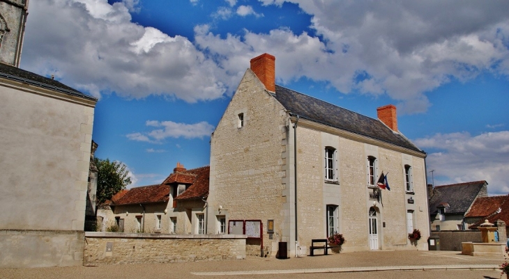
[[[283,234],[282,178],[287,173],[282,159],[286,142],[282,109],[248,70],[211,138],[208,231],[217,231],[217,222],[211,222],[217,215],[231,220],[259,219],[264,224],[266,253]],[[239,113],[244,120],[241,128]],[[268,219],[275,221],[274,239],[266,234]]]

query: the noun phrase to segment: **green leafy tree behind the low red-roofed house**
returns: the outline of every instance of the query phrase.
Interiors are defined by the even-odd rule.
[[[94,158],[98,169],[97,177],[97,204],[111,200],[112,196],[131,184],[131,178],[128,177],[127,166],[119,161],[109,161],[109,159]]]

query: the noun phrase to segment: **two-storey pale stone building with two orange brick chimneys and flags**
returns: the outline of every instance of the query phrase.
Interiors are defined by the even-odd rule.
[[[377,111],[369,118],[278,86],[275,57],[253,58],[211,136],[208,231],[223,219],[261,220],[251,244],[274,255],[287,242],[294,256],[336,232],[344,251],[415,249],[416,228],[426,250],[426,154],[397,129],[395,106]],[[377,186],[381,173],[390,191]]]

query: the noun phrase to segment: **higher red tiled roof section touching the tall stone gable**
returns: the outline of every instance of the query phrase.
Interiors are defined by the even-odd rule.
[[[192,170],[185,170],[186,177],[195,177],[195,180],[192,182],[192,185],[189,186],[180,196],[176,197],[175,200],[190,200],[196,198],[206,198],[208,196],[208,180],[211,173],[211,168],[209,166],[204,166],[202,168],[194,168]],[[174,173],[172,173],[174,175]],[[172,175],[165,180],[169,180]],[[179,174],[180,175],[180,174]],[[174,183],[174,182],[169,182]],[[178,182],[183,183],[183,182]]]

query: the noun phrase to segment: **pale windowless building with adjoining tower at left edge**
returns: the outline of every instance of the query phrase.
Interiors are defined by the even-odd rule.
[[[19,69],[28,1],[0,1],[0,268],[82,265],[97,99]]]

